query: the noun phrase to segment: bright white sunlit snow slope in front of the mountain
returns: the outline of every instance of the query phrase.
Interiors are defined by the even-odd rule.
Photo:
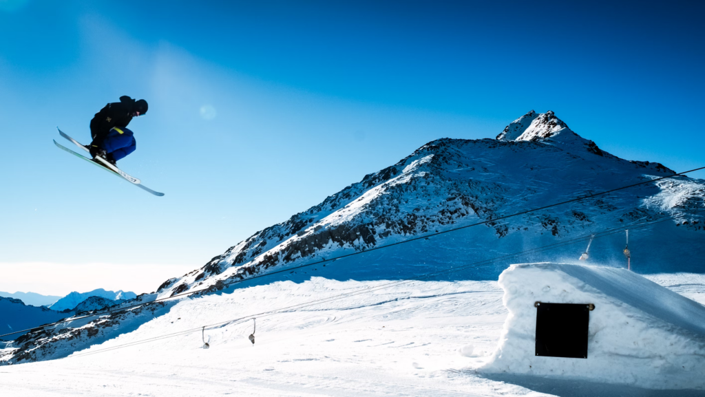
[[[704,298],[699,275],[656,281]],[[542,377],[496,379],[508,311],[496,281],[415,281],[204,331],[200,326],[390,281],[314,277],[184,298],[137,329],[68,358],[0,367],[7,396],[699,396]],[[705,300],[700,300],[701,303]],[[140,343],[184,329],[191,334]],[[116,348],[116,350],[105,350]],[[94,354],[87,354],[94,353]]]

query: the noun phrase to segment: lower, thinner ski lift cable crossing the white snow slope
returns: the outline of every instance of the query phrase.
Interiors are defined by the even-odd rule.
[[[686,214],[686,215],[700,214],[700,213],[702,213],[702,212],[705,212],[705,210],[697,211],[697,212],[692,212],[692,213],[689,213],[689,214]],[[663,216],[663,217],[658,218],[658,219],[656,219],[656,220],[654,220],[654,221],[646,221],[646,222],[642,222],[641,224],[632,224],[632,225],[630,226],[630,228],[632,228],[632,229],[635,229],[635,228],[643,228],[643,227],[646,227],[646,226],[651,226],[652,224],[658,224],[658,223],[663,222],[663,221],[668,221],[668,220],[670,220],[670,219],[674,219],[674,218],[676,218],[676,217],[678,217],[678,216],[682,216],[682,215],[683,215],[683,214],[675,214],[675,215]],[[112,346],[112,347],[110,347],[110,348],[104,348],[104,349],[102,349],[102,350],[96,350],[96,351],[93,351],[93,352],[80,353],[80,354],[73,354],[73,355],[67,356],[66,358],[75,358],[75,357],[82,357],[82,356],[84,356],[84,355],[92,355],[92,354],[97,354],[97,353],[104,353],[104,352],[107,352],[107,351],[110,351],[110,350],[116,350],[116,349],[118,349],[118,348],[127,348],[127,347],[130,347],[130,346],[135,346],[135,345],[142,344],[142,343],[149,343],[149,342],[152,342],[152,341],[158,341],[158,340],[161,340],[161,339],[164,339],[164,338],[173,338],[173,337],[176,337],[176,336],[187,335],[187,334],[191,334],[191,333],[193,333],[193,332],[195,332],[195,331],[198,331],[199,329],[204,330],[204,329],[206,329],[206,328],[212,329],[212,327],[216,327],[216,326],[242,324],[242,323],[244,323],[244,322],[249,321],[250,319],[252,319],[253,321],[255,321],[255,318],[257,318],[257,317],[268,317],[268,316],[271,316],[271,315],[274,315],[274,314],[281,314],[281,313],[283,313],[283,312],[288,312],[288,311],[293,310],[293,309],[302,309],[302,308],[309,307],[309,306],[313,306],[313,305],[320,305],[320,304],[322,304],[322,303],[328,303],[328,302],[331,302],[331,301],[333,301],[333,300],[339,300],[339,299],[343,299],[343,298],[348,298],[348,297],[353,296],[353,295],[360,295],[360,294],[362,294],[362,293],[370,293],[370,292],[379,291],[379,290],[385,289],[385,288],[391,288],[391,287],[393,287],[393,286],[400,286],[400,285],[403,285],[403,284],[406,284],[406,283],[412,283],[412,282],[415,282],[415,281],[420,281],[420,280],[422,280],[422,279],[429,279],[429,278],[431,278],[431,277],[439,276],[439,275],[445,274],[445,273],[452,273],[452,272],[455,272],[455,271],[467,270],[467,269],[472,269],[472,268],[475,268],[475,267],[482,267],[482,266],[485,266],[485,265],[487,265],[487,264],[491,264],[491,263],[494,263],[494,262],[499,262],[499,261],[504,260],[504,259],[511,259],[511,257],[517,257],[517,256],[521,256],[521,255],[527,255],[527,253],[541,252],[541,251],[545,251],[545,250],[551,250],[551,249],[554,249],[554,248],[560,248],[560,247],[563,247],[563,246],[565,246],[565,245],[572,245],[572,244],[575,244],[575,243],[580,243],[580,242],[582,242],[582,241],[587,240],[588,238],[589,238],[589,240],[591,241],[591,240],[593,240],[594,238],[602,238],[602,237],[606,237],[606,236],[612,236],[612,235],[614,235],[614,234],[621,233],[623,230],[624,230],[623,227],[608,229],[608,230],[606,230],[606,231],[602,231],[602,232],[599,232],[599,233],[591,234],[590,236],[582,236],[582,237],[579,237],[579,238],[573,238],[572,240],[565,240],[565,241],[562,241],[562,242],[560,242],[560,243],[553,243],[553,244],[549,244],[549,245],[544,245],[544,246],[542,246],[542,247],[534,248],[534,249],[532,249],[532,250],[525,250],[525,251],[522,251],[522,252],[516,252],[516,253],[514,253],[514,254],[503,255],[503,256],[501,256],[501,257],[496,257],[496,258],[492,258],[492,259],[486,259],[486,260],[484,260],[484,261],[474,262],[474,263],[472,263],[472,264],[465,264],[465,265],[462,265],[462,266],[460,266],[460,267],[454,267],[454,268],[446,269],[446,270],[442,270],[442,271],[435,271],[435,272],[432,272],[432,273],[423,274],[423,275],[414,277],[414,278],[412,278],[412,279],[401,280],[401,281],[393,281],[393,282],[391,282],[391,283],[382,284],[381,286],[364,287],[364,288],[361,288],[361,289],[359,289],[359,290],[357,290],[357,291],[351,291],[351,292],[349,292],[349,293],[343,293],[343,294],[333,295],[333,296],[328,297],[328,298],[321,298],[321,299],[319,299],[319,300],[313,300],[313,301],[309,301],[309,302],[305,302],[305,303],[300,303],[300,304],[297,304],[297,305],[290,305],[290,306],[288,306],[288,307],[281,307],[281,308],[278,308],[278,309],[269,310],[269,311],[267,311],[267,312],[261,312],[261,313],[257,313],[257,314],[250,314],[250,315],[247,315],[247,316],[244,316],[244,317],[239,317],[239,318],[237,318],[237,319],[230,319],[230,320],[227,320],[227,321],[224,321],[224,322],[219,322],[219,323],[215,323],[215,324],[209,324],[209,325],[205,325],[205,326],[200,326],[200,327],[193,328],[193,329],[186,329],[186,330],[183,330],[183,331],[178,331],[178,332],[173,333],[173,334],[166,334],[166,335],[164,335],[164,336],[155,336],[155,337],[153,337],[153,338],[147,338],[147,339],[144,339],[144,340],[142,340],[142,341],[135,341],[135,342],[131,342],[131,343],[125,343],[125,344],[120,345],[120,346]],[[256,325],[255,325],[255,329],[256,329]],[[254,334],[255,334],[255,330],[253,329],[251,336],[254,336]],[[252,343],[254,344],[254,342],[252,342]]]

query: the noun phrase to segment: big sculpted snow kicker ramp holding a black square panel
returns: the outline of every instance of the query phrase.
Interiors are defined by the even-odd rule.
[[[479,372],[705,389],[705,306],[611,267],[514,264],[499,285],[509,315],[497,350]],[[541,303],[594,305],[587,312],[587,358],[539,353]]]

